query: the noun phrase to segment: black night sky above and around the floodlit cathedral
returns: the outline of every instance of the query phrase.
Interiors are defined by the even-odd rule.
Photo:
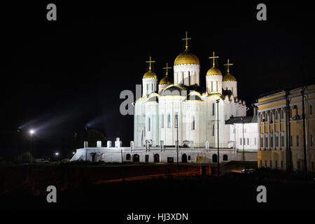
[[[231,73],[239,98],[249,107],[259,94],[311,83],[314,77],[314,25],[306,3],[266,3],[263,22],[256,20],[253,1],[178,2],[176,7],[56,3],[55,22],[46,20],[47,3],[2,6],[0,157],[16,150],[18,127],[36,130],[39,154],[56,151],[74,132],[83,133],[85,123],[129,145],[133,117],[120,115],[120,92],[141,84],[150,55],[163,78],[162,67],[173,65],[184,49],[185,31],[200,59],[201,85],[215,50],[223,73],[228,57],[235,64]]]

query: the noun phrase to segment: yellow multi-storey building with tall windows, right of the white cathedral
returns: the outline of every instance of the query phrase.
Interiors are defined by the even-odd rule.
[[[258,167],[302,171],[307,165],[309,172],[314,172],[315,85],[265,94],[255,106],[260,145]]]

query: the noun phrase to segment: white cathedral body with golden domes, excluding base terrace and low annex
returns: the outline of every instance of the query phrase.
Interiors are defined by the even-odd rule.
[[[216,58],[206,74],[200,74],[200,60],[188,48],[174,61],[174,83],[169,78],[168,66],[165,78],[158,77],[151,69],[142,79],[142,97],[134,104],[134,146],[185,146],[193,144],[203,148],[235,148],[235,133],[231,133],[227,120],[246,117],[246,103],[237,97],[237,80],[230,73],[223,76],[216,68]],[[206,79],[206,87],[200,87],[200,78]],[[257,123],[253,126],[257,126]],[[255,128],[255,127],[253,127]],[[257,148],[257,147],[253,147]]]

